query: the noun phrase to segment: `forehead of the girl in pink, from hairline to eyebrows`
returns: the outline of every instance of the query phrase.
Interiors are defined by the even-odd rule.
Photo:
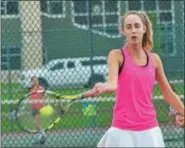
[[[126,24],[135,24],[135,23],[142,24],[141,18],[136,14],[129,14],[128,16],[126,16],[124,22],[125,22],[125,25]]]

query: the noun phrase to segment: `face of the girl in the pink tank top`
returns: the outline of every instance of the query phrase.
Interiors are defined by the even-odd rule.
[[[126,16],[122,28],[123,35],[127,38],[128,44],[141,44],[146,27],[141,18],[136,14]]]

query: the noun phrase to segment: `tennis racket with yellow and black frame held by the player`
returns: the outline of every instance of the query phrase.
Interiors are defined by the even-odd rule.
[[[93,96],[94,93],[95,90],[78,95],[62,95],[49,90],[28,93],[17,103],[16,122],[23,131],[28,133],[50,130],[61,120],[74,102]],[[34,95],[38,96],[38,99],[30,99]],[[43,116],[40,110],[48,105],[52,108],[52,114]]]

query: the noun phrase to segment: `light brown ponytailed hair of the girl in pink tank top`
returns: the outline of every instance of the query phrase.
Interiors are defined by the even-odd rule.
[[[121,27],[124,27],[125,18],[130,15],[134,14],[141,18],[143,24],[146,26],[146,32],[143,35],[142,47],[145,50],[152,50],[153,47],[153,30],[152,30],[152,23],[145,12],[142,11],[129,11],[127,12],[121,20]]]

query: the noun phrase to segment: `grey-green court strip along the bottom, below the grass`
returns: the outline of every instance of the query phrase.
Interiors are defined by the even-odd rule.
[[[84,128],[47,132],[43,145],[33,144],[35,135],[27,133],[2,134],[2,147],[95,147],[106,128]],[[184,131],[177,127],[161,126],[166,147],[184,147]],[[173,130],[172,130],[173,129]]]

